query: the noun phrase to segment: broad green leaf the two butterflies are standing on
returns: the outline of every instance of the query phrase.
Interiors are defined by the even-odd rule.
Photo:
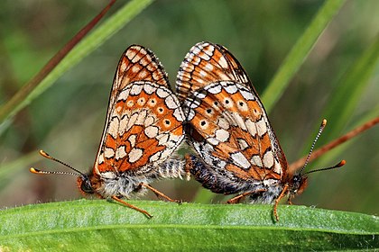
[[[153,214],[102,200],[0,211],[0,250],[215,251],[379,248],[379,219],[305,206],[132,201]]]

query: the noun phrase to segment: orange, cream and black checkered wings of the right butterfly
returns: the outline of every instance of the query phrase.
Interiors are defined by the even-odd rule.
[[[177,92],[204,169],[237,182],[282,179],[282,148],[254,86],[226,48],[209,42],[192,47],[181,63]]]

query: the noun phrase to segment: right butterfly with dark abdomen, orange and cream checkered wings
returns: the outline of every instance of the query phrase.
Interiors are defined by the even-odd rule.
[[[274,202],[273,214],[279,220],[279,201],[289,195],[291,203],[308,178],[289,171],[263,103],[241,64],[225,47],[200,42],[182,61],[176,89],[189,143],[197,152],[186,156],[187,172],[214,193],[237,193],[229,203]]]

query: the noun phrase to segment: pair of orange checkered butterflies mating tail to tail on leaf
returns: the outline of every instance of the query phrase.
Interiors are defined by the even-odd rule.
[[[112,198],[151,217],[121,198],[150,189],[173,202],[149,183],[190,173],[215,193],[238,193],[229,202],[275,201],[278,220],[279,200],[301,193],[307,178],[289,174],[263,104],[236,58],[220,45],[198,43],[181,63],[177,94],[179,98],[151,50],[138,45],[126,49],[116,70],[95,165],[88,175],[76,169],[65,174],[79,175],[82,192]],[[198,155],[183,161],[173,153],[185,131]]]

